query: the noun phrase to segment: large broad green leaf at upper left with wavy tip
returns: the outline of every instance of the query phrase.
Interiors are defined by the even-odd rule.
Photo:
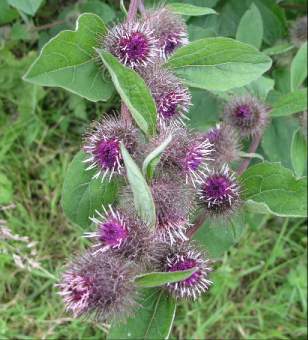
[[[106,101],[113,93],[95,61],[94,47],[98,37],[107,31],[104,22],[95,14],[78,17],[75,31],[63,31],[42,49],[24,79],[43,86],[58,86],[91,101]]]

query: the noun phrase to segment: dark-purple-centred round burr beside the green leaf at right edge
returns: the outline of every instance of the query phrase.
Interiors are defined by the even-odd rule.
[[[229,216],[239,208],[240,186],[228,165],[205,174],[199,181],[198,197],[200,205],[213,217]]]

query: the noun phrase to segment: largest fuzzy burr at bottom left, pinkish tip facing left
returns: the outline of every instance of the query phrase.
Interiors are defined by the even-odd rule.
[[[93,314],[97,320],[124,317],[135,303],[133,279],[137,271],[131,262],[110,253],[78,257],[63,273],[58,284],[66,310],[75,317]]]

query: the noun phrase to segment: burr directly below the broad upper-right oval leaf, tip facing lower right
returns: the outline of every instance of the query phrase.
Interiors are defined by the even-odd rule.
[[[159,64],[141,68],[140,74],[155,99],[160,127],[174,121],[185,125],[184,119],[188,119],[186,113],[191,105],[188,88]]]

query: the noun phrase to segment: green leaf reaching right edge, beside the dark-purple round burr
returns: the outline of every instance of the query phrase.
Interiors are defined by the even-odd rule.
[[[248,168],[241,179],[246,200],[262,204],[273,215],[307,216],[307,178],[296,179],[279,163],[265,162]]]

